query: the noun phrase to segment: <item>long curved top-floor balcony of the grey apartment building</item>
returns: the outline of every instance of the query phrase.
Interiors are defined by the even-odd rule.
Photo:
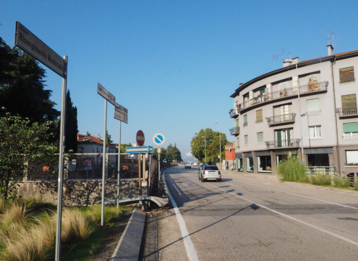
[[[321,81],[321,82],[314,82],[310,84],[300,85],[297,87],[292,88],[285,88],[280,91],[275,91],[267,94],[260,94],[258,97],[254,97],[250,100],[246,100],[243,103],[240,103],[237,107],[237,113],[242,110],[245,110],[250,107],[254,107],[259,105],[260,103],[268,103],[273,100],[283,99],[285,97],[293,97],[305,94],[314,94],[314,93],[321,93],[327,92],[328,81]]]

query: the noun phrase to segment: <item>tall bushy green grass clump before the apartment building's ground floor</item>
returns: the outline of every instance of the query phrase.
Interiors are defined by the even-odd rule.
[[[296,156],[289,156],[278,165],[278,174],[282,181],[306,182],[305,166],[299,162]]]

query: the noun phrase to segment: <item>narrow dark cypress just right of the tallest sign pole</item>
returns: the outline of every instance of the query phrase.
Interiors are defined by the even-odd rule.
[[[68,152],[69,150],[72,150],[74,152],[77,151],[77,128],[77,108],[76,106],[74,106],[68,90],[66,94],[66,152]]]

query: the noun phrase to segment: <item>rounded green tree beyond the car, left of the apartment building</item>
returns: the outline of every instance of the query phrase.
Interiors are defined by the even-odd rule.
[[[226,140],[226,134],[221,133],[221,156],[225,157],[225,145],[228,143]],[[206,158],[210,156],[218,156],[220,154],[220,139],[219,132],[214,132],[210,128],[201,129],[199,133],[195,133],[191,139],[190,147],[191,153],[200,162],[205,159],[205,140],[206,140]]]

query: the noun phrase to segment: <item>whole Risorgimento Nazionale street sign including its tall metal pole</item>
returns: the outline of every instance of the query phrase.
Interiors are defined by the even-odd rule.
[[[65,118],[66,118],[66,89],[67,89],[67,64],[68,57],[59,56],[43,41],[35,36],[19,21],[15,24],[15,46],[20,47],[26,53],[43,63],[53,72],[62,76],[61,97],[61,121],[60,121],[60,148],[59,148],[59,179],[57,192],[57,222],[56,222],[56,246],[55,260],[61,259],[61,227],[62,227],[62,186],[63,186],[63,158],[65,142]]]

